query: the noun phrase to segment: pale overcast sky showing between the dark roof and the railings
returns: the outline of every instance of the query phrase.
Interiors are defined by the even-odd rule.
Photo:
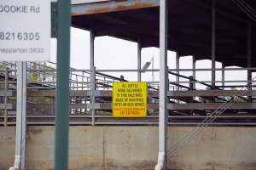
[[[90,68],[90,32],[77,28],[71,30],[71,66],[76,69]],[[55,62],[55,40],[52,41],[51,61]],[[150,61],[154,56],[154,69],[159,69],[159,49],[143,48],[142,67],[145,62]],[[95,40],[95,65],[96,69],[137,69],[137,43],[129,42],[114,37],[96,37]],[[168,67],[175,69],[176,53],[168,52]],[[198,60],[196,68],[211,68],[210,60]],[[217,67],[221,68],[221,63],[217,62]],[[150,65],[150,69],[152,65]],[[182,57],[180,59],[181,69],[192,68],[192,56]],[[191,76],[192,72],[181,72],[185,76]],[[110,74],[110,73],[108,73]],[[117,72],[112,73],[119,77],[123,75],[129,81],[137,81],[136,72]],[[221,80],[221,71],[217,71],[217,80]],[[170,77],[171,81],[175,77]],[[151,72],[143,73],[143,81],[152,81]],[[154,80],[159,79],[159,73],[154,73]],[[202,81],[211,81],[210,71],[196,72],[196,79]],[[245,80],[246,71],[226,71],[226,80]],[[183,81],[183,79],[181,79]],[[205,88],[197,86],[196,88]]]

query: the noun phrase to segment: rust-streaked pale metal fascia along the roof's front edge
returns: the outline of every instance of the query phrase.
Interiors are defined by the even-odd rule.
[[[159,0],[113,0],[107,2],[74,4],[72,7],[72,15],[100,14],[157,6],[159,6]]]

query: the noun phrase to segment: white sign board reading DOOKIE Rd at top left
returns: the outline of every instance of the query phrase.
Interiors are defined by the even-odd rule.
[[[50,0],[0,0],[0,60],[49,60],[50,10]]]

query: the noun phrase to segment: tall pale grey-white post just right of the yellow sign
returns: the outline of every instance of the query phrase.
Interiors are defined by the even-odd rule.
[[[167,29],[168,29],[167,0],[160,1],[160,102],[159,102],[159,156],[155,170],[167,169]]]

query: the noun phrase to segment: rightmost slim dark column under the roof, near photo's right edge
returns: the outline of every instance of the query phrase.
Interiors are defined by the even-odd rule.
[[[252,67],[252,21],[247,19],[247,68]],[[247,90],[252,90],[252,71],[247,71]],[[252,96],[247,96],[248,101],[252,101]]]

